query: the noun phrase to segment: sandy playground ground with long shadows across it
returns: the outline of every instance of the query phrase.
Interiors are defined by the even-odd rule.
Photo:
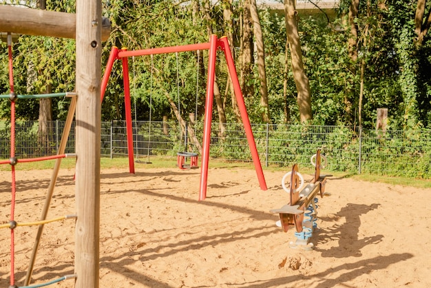
[[[101,175],[100,287],[431,287],[430,190],[328,178],[313,251],[269,210],[288,203],[285,172],[137,167]],[[287,171],[286,171],[287,172]],[[17,222],[38,220],[51,171],[17,172]],[[61,170],[48,218],[74,214],[74,170]],[[310,180],[311,176],[306,175]],[[10,218],[10,172],[0,172],[0,225]],[[36,227],[15,231],[15,279]],[[74,220],[45,225],[33,283],[74,273]],[[0,287],[10,281],[10,229],[0,229]],[[65,280],[52,287],[73,287]]]

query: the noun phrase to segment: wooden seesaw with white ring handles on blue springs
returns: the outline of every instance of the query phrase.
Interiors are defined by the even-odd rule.
[[[323,198],[325,195],[326,177],[331,175],[321,175],[321,161],[326,157],[320,154],[320,150],[311,157],[311,163],[315,166],[315,174],[311,183],[304,187],[304,178],[298,172],[298,165],[292,167],[291,172],[287,172],[282,178],[282,187],[289,194],[289,203],[280,209],[272,209],[271,213],[280,215],[280,226],[284,232],[288,231],[288,227],[295,226],[295,243],[289,243],[292,248],[301,248],[304,250],[313,249],[313,243],[310,243],[310,238],[313,236],[313,231],[317,227],[317,194]],[[313,162],[314,159],[314,162]],[[287,187],[286,179],[290,179],[290,187]]]

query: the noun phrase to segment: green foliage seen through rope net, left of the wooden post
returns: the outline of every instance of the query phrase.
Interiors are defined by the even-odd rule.
[[[21,3],[22,1],[20,1]],[[47,10],[74,12],[74,1],[47,1]],[[25,1],[24,5],[33,7],[34,1]],[[7,51],[6,43],[1,49]],[[70,92],[74,90],[75,56],[74,40],[53,37],[34,37],[23,35],[12,44],[14,92],[17,94]],[[1,93],[9,93],[8,54],[0,56],[2,73],[0,76]],[[64,119],[63,99],[53,99],[53,117]],[[10,118],[9,101],[0,101],[0,119]],[[16,104],[17,119],[38,119],[39,100],[22,100]]]

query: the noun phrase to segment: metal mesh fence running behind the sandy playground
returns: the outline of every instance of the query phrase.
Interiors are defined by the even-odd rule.
[[[38,121],[17,122],[17,156],[32,158],[56,154],[64,124],[50,121],[45,134],[41,134]],[[311,156],[321,148],[330,171],[431,178],[431,130],[376,132],[347,126],[251,126],[260,161],[265,166],[298,163],[301,167],[311,167]],[[202,123],[193,126],[198,141],[202,141],[202,127]],[[101,156],[127,157],[125,121],[103,122],[101,128]],[[193,140],[173,121],[134,121],[133,131],[136,159],[198,152]],[[74,152],[74,139],[72,125],[66,153]],[[9,155],[10,125],[0,121],[0,158]],[[212,123],[210,156],[229,162],[251,162],[242,124]]]

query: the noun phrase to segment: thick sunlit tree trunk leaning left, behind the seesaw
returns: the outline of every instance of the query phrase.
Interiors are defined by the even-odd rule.
[[[297,89],[297,104],[299,107],[299,119],[301,122],[311,120],[311,90],[308,77],[304,71],[302,62],[301,43],[297,30],[295,0],[284,0],[284,14],[286,15],[286,34],[291,48],[293,79]],[[287,59],[286,59],[287,61]]]

